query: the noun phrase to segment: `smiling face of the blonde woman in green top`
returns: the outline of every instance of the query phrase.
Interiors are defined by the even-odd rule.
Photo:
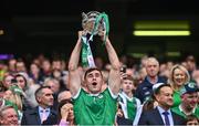
[[[180,69],[175,69],[174,70],[174,83],[177,86],[184,85],[186,82],[186,73],[181,71]]]

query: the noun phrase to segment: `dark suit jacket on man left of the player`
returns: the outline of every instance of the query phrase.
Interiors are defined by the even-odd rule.
[[[54,122],[51,122],[53,119]],[[48,119],[44,122],[44,125],[54,125],[56,124],[57,114],[55,111],[51,109]],[[42,125],[39,114],[39,107],[27,109],[23,112],[23,117],[21,125]]]

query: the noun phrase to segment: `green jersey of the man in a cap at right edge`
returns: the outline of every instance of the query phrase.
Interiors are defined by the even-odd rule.
[[[177,106],[171,108],[172,112],[175,112],[176,114],[184,116],[185,118],[187,118],[187,115],[184,113],[181,106]],[[196,106],[195,109],[192,111],[191,115],[196,115],[199,118],[199,106]]]

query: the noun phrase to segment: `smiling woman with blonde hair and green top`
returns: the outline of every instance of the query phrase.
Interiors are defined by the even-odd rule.
[[[181,103],[179,91],[189,81],[190,81],[190,75],[185,66],[177,64],[171,67],[168,83],[171,85],[174,90],[172,107],[176,107]]]

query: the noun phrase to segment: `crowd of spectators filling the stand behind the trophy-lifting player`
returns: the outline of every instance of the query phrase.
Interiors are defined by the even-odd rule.
[[[121,73],[115,125],[153,125],[150,116],[155,112],[151,111],[159,106],[171,109],[175,113],[171,112],[172,115],[179,115],[188,125],[192,122],[199,124],[199,69],[195,56],[189,55],[182,62],[160,63],[156,57],[147,55],[137,64],[129,64],[127,56],[119,61],[121,66],[126,66],[126,71]],[[105,84],[102,88],[105,90],[112,66],[100,56],[95,62],[97,70],[102,71]],[[50,60],[44,55],[29,61],[29,64],[23,59],[14,57],[1,61],[0,123],[76,125],[67,64],[69,61],[63,59]],[[83,77],[84,69],[78,65],[77,71]],[[163,83],[169,86],[154,87]],[[81,86],[85,85],[82,83]],[[161,96],[163,93],[168,93],[168,97]],[[46,115],[43,116],[40,111],[46,111]],[[176,120],[171,119],[171,123],[175,124]]]

